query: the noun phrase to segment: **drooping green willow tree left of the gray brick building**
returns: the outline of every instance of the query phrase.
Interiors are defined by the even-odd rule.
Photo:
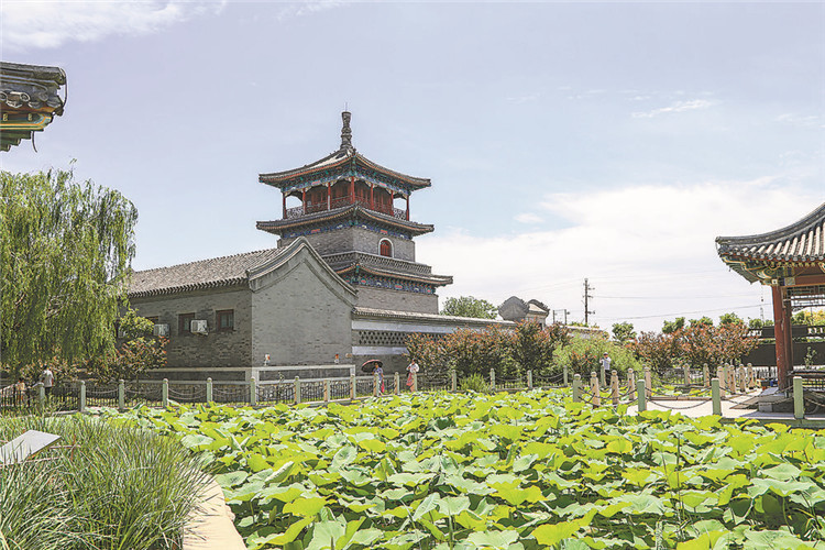
[[[70,170],[0,179],[0,365],[16,372],[111,350],[134,256],[134,206]]]

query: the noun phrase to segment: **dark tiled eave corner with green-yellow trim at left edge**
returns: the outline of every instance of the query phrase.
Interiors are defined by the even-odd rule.
[[[0,62],[0,151],[33,140],[34,132],[63,114],[58,92],[65,85],[59,67]]]

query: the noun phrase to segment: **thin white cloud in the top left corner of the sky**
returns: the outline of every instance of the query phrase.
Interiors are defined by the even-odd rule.
[[[226,1],[18,1],[0,2],[2,46],[21,52],[58,47],[69,41],[95,42],[112,34],[152,34],[205,13]]]

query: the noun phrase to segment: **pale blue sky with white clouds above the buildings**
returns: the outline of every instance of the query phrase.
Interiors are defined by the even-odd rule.
[[[439,290],[659,330],[770,318],[718,258],[825,200],[823,2],[0,2],[0,57],[67,74],[0,155],[139,211],[136,270],[276,245],[261,173],[353,144],[432,180],[410,217]]]

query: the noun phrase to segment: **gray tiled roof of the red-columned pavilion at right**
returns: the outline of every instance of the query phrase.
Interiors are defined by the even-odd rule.
[[[787,228],[745,237],[717,237],[723,260],[822,262],[825,260],[825,204]]]

